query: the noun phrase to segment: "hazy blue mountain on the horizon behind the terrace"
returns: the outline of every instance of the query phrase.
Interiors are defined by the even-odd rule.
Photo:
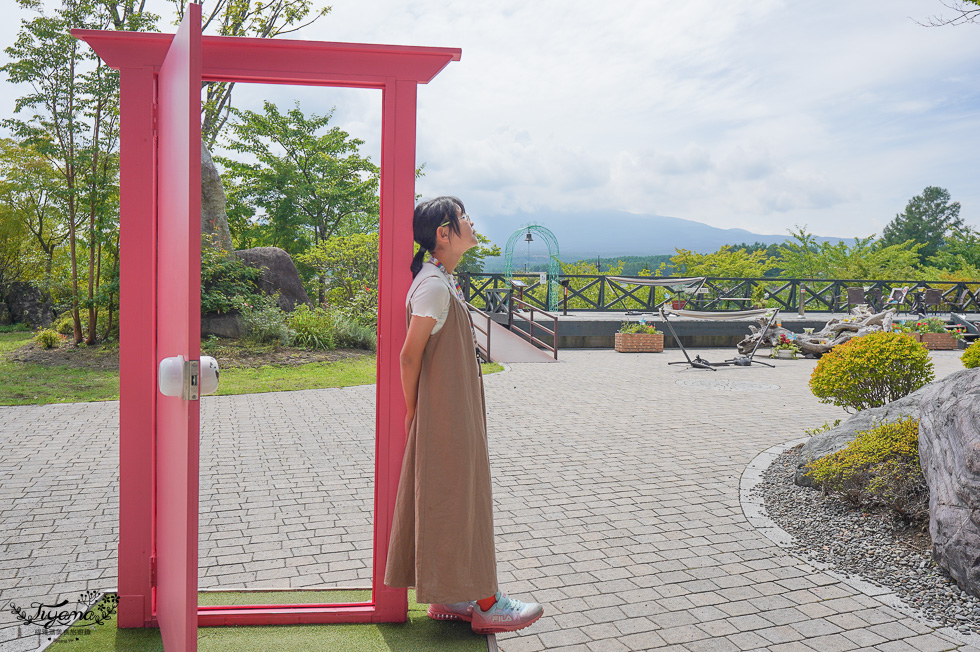
[[[673,254],[674,249],[698,253],[717,251],[726,244],[778,244],[790,238],[762,235],[745,229],[719,229],[701,222],[664,215],[636,215],[623,211],[585,213],[516,213],[513,215],[476,216],[476,230],[489,237],[501,251],[510,235],[528,224],[543,226],[555,234],[563,261],[606,256],[652,256]],[[530,247],[519,236],[514,245],[514,261],[544,260],[547,247],[532,234]],[[842,238],[818,237],[818,242],[838,242]],[[530,251],[528,251],[530,250]],[[496,259],[487,259],[490,263]],[[503,260],[501,257],[500,260]]]

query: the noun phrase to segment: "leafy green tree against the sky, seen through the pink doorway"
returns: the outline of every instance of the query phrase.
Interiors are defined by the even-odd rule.
[[[268,101],[263,113],[231,111],[240,121],[232,125],[228,149],[258,159],[214,159],[226,170],[236,234],[296,254],[333,236],[378,228],[379,170],[358,153],[364,141],[339,127],[317,134],[333,111],[306,117],[297,102],[282,114]],[[253,206],[265,215],[255,219]]]

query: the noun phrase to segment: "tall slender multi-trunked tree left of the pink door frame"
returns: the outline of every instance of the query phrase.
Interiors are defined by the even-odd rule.
[[[25,9],[42,12],[36,0],[18,1]],[[143,18],[139,15],[127,27],[141,27]],[[118,248],[118,212],[113,208],[118,200],[119,76],[69,30],[106,29],[110,22],[105,6],[97,0],[64,0],[53,16],[41,13],[23,22],[15,43],[4,50],[10,61],[0,66],[11,82],[30,87],[15,102],[14,112],[30,109],[33,113],[26,120],[5,119],[4,126],[20,145],[38,152],[57,172],[49,191],[63,207],[68,234],[75,344],[82,340],[80,308],[89,310],[85,341],[95,343],[102,247]],[[85,251],[88,290],[82,298],[78,263]]]

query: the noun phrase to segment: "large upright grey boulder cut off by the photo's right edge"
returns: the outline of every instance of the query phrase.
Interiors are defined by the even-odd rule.
[[[980,596],[980,369],[928,386],[919,415],[919,463],[929,485],[936,562]]]

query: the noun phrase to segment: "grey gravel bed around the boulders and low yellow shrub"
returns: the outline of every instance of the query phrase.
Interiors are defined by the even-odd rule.
[[[907,525],[887,513],[852,508],[799,487],[799,446],[779,455],[753,489],[769,518],[793,537],[801,556],[893,591],[930,620],[980,633],[980,600],[960,590],[932,560],[928,524]]]

